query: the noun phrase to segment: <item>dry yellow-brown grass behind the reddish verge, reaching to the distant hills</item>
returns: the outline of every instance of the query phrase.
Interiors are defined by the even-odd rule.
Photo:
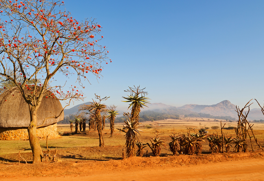
[[[225,123],[226,121],[224,121]],[[226,127],[235,126],[236,122],[226,122]],[[223,122],[222,122],[223,124]],[[163,135],[160,135],[161,139],[163,139],[168,145],[170,142],[169,135],[172,135],[171,132],[173,130],[178,132],[179,134],[183,132],[187,132],[186,128],[199,128],[199,121],[189,121],[189,120],[162,120],[157,122],[144,122],[142,125],[152,125],[152,128],[142,128],[144,132],[141,133],[139,139],[142,143],[150,143],[149,138],[154,137],[154,132],[159,131],[163,132]],[[256,127],[255,127],[256,125]],[[264,130],[261,129],[263,127],[263,123],[257,123],[253,126],[255,136],[257,137],[261,146],[264,147]],[[115,127],[122,128],[122,123],[117,123]],[[220,126],[220,122],[215,121],[205,121],[202,122],[202,126],[210,127],[210,126]],[[260,128],[260,130],[257,130]],[[58,125],[58,131],[61,132],[69,132],[69,125]],[[210,134],[212,133],[220,133],[220,130],[208,130]],[[229,136],[235,136],[234,130],[223,130],[224,133],[227,133]],[[58,158],[61,160],[66,159],[77,159],[79,161],[85,160],[110,160],[110,159],[120,159],[122,156],[122,149],[125,148],[125,133],[115,130],[114,137],[110,137],[110,125],[106,124],[103,132],[103,138],[105,147],[99,148],[99,139],[97,131],[86,131],[81,132],[72,136],[62,136],[59,139],[49,139],[48,144],[51,148],[51,151],[54,151],[55,148],[58,148]],[[193,131],[191,131],[193,132]],[[248,139],[249,141],[249,139]],[[43,150],[46,150],[46,140],[40,140],[41,147]],[[250,143],[249,143],[250,144]],[[205,143],[202,144],[203,150],[202,153],[210,153],[209,151],[209,143],[206,140]],[[255,141],[253,142],[253,146],[255,150],[260,150]],[[161,148],[161,156],[171,156],[172,153],[167,148]],[[17,153],[24,149],[21,152],[22,157],[25,157],[27,161],[31,161],[32,153],[28,140],[14,140],[14,141],[1,141],[0,144],[0,162],[4,160],[9,161],[17,161]],[[149,147],[144,148],[144,156],[146,155],[146,150],[148,150],[149,155],[152,155],[152,151]],[[251,146],[249,146],[249,151],[251,150]],[[231,148],[231,152],[233,148]]]

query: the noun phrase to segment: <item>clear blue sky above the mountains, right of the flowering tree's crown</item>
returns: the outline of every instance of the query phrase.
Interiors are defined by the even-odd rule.
[[[122,96],[133,85],[146,87],[151,103],[171,106],[263,104],[264,1],[64,2],[76,20],[102,26],[101,45],[112,60],[103,77],[88,77],[84,101],[67,109],[94,93],[110,96],[104,104],[128,107]]]

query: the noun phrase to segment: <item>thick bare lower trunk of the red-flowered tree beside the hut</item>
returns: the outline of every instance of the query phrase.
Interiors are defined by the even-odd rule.
[[[36,135],[37,130],[37,111],[34,107],[30,110],[30,125],[28,127],[28,138],[33,153],[33,163],[42,162],[43,151]]]

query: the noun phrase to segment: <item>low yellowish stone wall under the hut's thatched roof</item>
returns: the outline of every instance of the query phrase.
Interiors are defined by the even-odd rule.
[[[37,128],[37,137],[40,139],[59,138],[57,123],[46,127]],[[28,140],[27,127],[0,127],[0,140]]]

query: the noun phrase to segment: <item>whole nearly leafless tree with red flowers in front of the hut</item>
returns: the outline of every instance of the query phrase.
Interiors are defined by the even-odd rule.
[[[63,4],[54,0],[0,1],[0,76],[12,81],[28,104],[33,163],[40,162],[43,154],[36,137],[41,101],[83,98],[75,86],[63,91],[65,83],[55,84],[54,75],[74,76],[83,87],[88,73],[98,78],[102,63],[108,60],[105,46],[98,44],[103,38],[101,26],[94,20],[75,20],[70,12],[60,10]],[[29,81],[33,84],[28,85]]]

